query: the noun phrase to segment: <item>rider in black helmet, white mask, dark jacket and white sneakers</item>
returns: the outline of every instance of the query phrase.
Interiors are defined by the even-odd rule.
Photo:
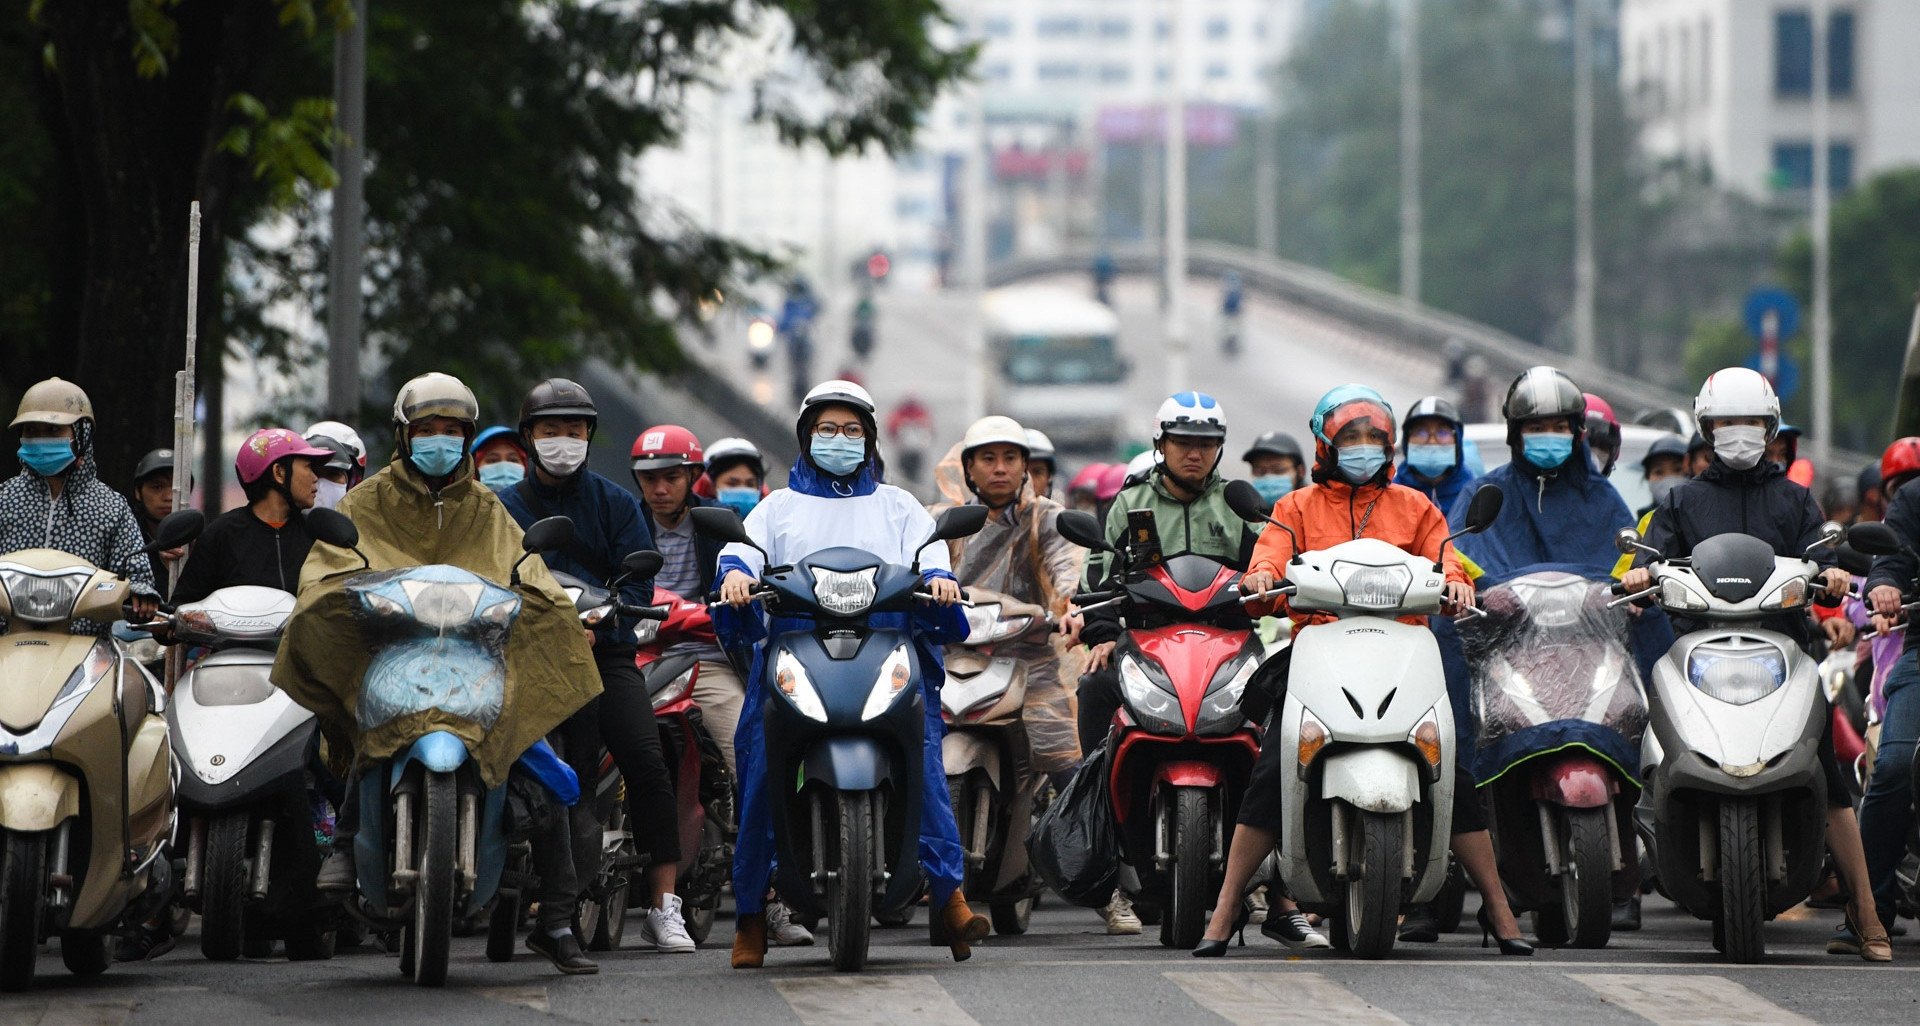
[[[593,396],[580,382],[547,379],[520,402],[518,440],[534,473],[495,494],[507,513],[524,528],[547,517],[574,523],[574,540],[541,553],[547,567],[588,584],[607,584],[620,574],[628,553],[651,550],[653,532],[634,496],[588,469],[588,450],[599,427]],[[662,571],[664,574],[664,571]],[[653,584],[628,580],[620,601],[651,605]],[[641,947],[685,955],[695,949],[674,893],[680,872],[680,809],[674,782],[660,751],[660,728],[653,721],[653,699],[634,665],[634,621],[609,617],[588,632],[601,694],[561,728],[566,761],[582,782],[597,776],[605,745],[620,767],[628,809],[634,815],[634,843],[649,855],[647,886],[651,903],[641,924]],[[599,872],[601,851],[593,843],[599,822],[580,817],[574,826],[574,874],[582,886]],[[536,840],[536,843],[540,843]],[[622,911],[609,909],[609,915]]]

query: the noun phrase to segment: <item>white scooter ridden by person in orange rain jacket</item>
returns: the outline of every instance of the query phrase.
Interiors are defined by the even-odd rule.
[[[1246,482],[1227,503],[1290,530]],[[1501,503],[1498,488],[1475,492],[1461,534],[1492,526]],[[1281,878],[1302,909],[1329,915],[1334,947],[1380,959],[1402,907],[1434,899],[1448,878],[1453,709],[1432,632],[1400,623],[1440,613],[1446,573],[1379,538],[1294,550],[1277,592],[1294,613],[1336,621],[1294,632],[1265,738],[1298,767],[1281,799]]]

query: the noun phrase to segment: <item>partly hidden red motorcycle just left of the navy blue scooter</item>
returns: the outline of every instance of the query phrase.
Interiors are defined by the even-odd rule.
[[[693,682],[701,674],[699,655],[666,651],[682,642],[716,644],[714,624],[701,601],[687,601],[662,588],[655,588],[653,601],[672,611],[662,623],[641,621],[636,628],[639,653],[634,665],[653,699],[660,751],[674,778],[682,853],[676,892],[687,918],[687,936],[707,943],[720,909],[720,892],[733,867],[733,774],[693,701]],[[647,888],[636,886],[630,901],[645,903],[647,893]]]

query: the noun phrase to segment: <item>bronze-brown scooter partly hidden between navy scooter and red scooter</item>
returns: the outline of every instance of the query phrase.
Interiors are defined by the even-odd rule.
[[[1046,782],[1033,772],[1027,751],[1025,663],[1002,649],[1044,638],[1054,619],[1039,605],[983,588],[973,588],[972,599],[966,640],[947,646],[941,757],[966,847],[966,892],[987,897],[996,934],[1018,936],[1033,918],[1037,884],[1027,872],[1027,832]]]

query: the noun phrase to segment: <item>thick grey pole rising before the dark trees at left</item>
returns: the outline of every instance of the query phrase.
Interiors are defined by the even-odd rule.
[[[334,35],[332,254],[326,261],[326,415],[353,423],[361,400],[361,229],[367,167],[367,0]]]

